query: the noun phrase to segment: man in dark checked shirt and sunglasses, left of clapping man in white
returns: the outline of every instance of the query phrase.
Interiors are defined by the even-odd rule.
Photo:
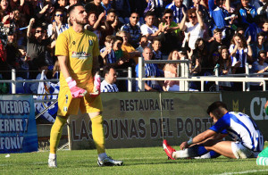
[[[141,36],[141,30],[138,24],[138,13],[132,12],[130,15],[130,22],[124,24],[121,27],[121,30],[128,32],[130,34],[129,43],[130,45],[134,46],[134,48],[138,47],[139,38]]]

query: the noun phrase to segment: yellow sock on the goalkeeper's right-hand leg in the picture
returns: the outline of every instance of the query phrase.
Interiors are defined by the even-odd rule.
[[[105,132],[103,125],[103,116],[97,115],[91,118],[92,136],[96,145],[97,154],[105,153]]]

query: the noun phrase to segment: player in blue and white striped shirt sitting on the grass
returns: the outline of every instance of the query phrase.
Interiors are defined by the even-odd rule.
[[[242,112],[228,112],[226,104],[214,102],[206,111],[214,120],[214,126],[198,134],[188,142],[180,145],[180,151],[176,151],[163,140],[163,149],[171,159],[221,154],[229,158],[253,158],[257,157],[264,149],[264,137],[255,121]],[[233,141],[214,139],[218,133],[227,130]],[[193,145],[193,146],[192,146]]]

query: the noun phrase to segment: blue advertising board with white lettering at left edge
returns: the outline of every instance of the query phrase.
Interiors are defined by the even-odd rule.
[[[0,154],[38,151],[32,96],[0,96]]]

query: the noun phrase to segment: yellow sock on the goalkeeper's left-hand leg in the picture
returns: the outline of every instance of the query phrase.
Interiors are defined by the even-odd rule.
[[[55,154],[57,146],[62,137],[63,125],[67,122],[67,118],[56,117],[50,131],[50,153]]]

